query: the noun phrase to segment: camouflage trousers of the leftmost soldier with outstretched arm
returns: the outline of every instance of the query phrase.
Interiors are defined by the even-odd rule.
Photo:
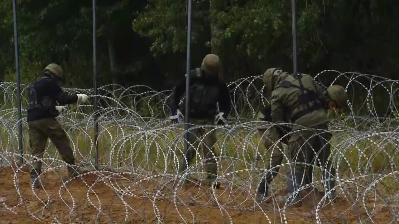
[[[75,165],[75,158],[71,149],[67,134],[62,129],[61,124],[55,118],[45,118],[28,122],[29,126],[29,144],[31,154],[43,158],[45,145],[49,138],[57,147],[65,163]],[[41,172],[41,161],[31,163],[30,174],[37,176]]]

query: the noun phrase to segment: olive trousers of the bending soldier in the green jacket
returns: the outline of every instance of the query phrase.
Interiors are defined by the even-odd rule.
[[[328,157],[330,156],[330,140],[332,135],[327,131],[327,124],[313,127],[314,130],[294,132],[288,142],[288,192],[293,193],[298,188],[312,183],[314,166],[322,168],[322,178],[332,179],[335,169]],[[326,182],[327,190],[334,186],[334,181]]]

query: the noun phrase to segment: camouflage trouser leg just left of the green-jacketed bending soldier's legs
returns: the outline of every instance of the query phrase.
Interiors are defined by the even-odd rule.
[[[266,150],[271,149],[271,159],[268,167],[266,169],[270,170],[267,171],[261,180],[259,185],[258,192],[266,194],[267,191],[266,185],[271,183],[273,179],[279,174],[280,167],[282,163],[282,159],[284,154],[282,153],[283,146],[282,141],[280,139],[279,132],[277,132],[277,127],[270,127],[269,129],[260,129],[259,134],[262,137],[263,145],[265,146]]]

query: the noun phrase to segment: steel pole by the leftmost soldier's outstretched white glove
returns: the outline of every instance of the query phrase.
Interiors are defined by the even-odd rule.
[[[96,0],[93,0],[93,85],[94,85],[94,145],[95,145],[95,168],[99,165],[98,149],[98,105],[97,105],[97,48],[96,48]]]

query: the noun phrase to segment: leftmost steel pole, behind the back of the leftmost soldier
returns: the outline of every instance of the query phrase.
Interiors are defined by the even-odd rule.
[[[15,70],[17,75],[17,100],[18,100],[18,149],[20,152],[20,163],[24,163],[22,157],[22,113],[21,113],[21,79],[20,79],[20,60],[19,60],[19,47],[18,47],[18,26],[17,26],[17,3],[16,0],[12,1],[12,10],[14,13],[14,45],[15,45]]]

